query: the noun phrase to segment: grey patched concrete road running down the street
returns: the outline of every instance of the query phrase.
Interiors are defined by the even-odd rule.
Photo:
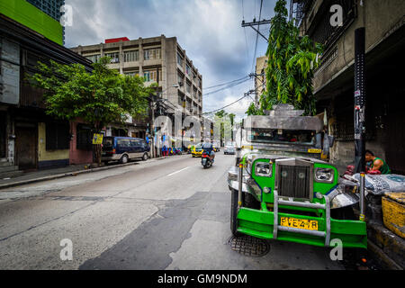
[[[0,190],[0,269],[343,269],[329,250],[268,241],[232,251],[226,175],[190,156]],[[73,259],[62,261],[60,241]]]

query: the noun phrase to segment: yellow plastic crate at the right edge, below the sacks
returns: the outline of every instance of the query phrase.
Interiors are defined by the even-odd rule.
[[[401,238],[405,238],[405,192],[384,193],[384,225]]]

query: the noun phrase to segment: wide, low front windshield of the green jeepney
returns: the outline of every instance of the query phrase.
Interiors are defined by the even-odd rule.
[[[263,143],[314,145],[315,131],[254,128],[247,130],[247,140]]]

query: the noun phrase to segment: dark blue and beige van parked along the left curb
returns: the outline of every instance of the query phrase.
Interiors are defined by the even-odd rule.
[[[102,161],[120,161],[127,163],[130,159],[147,160],[150,148],[144,139],[130,137],[104,137]]]

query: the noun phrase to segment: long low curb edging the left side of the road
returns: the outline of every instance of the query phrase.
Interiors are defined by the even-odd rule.
[[[151,158],[151,159],[149,159],[149,162],[155,162],[158,159],[163,160],[165,158],[166,157]],[[148,163],[148,162],[140,162],[140,163]],[[35,178],[35,179],[27,179],[27,180],[14,182],[14,183],[0,184],[0,190],[5,189],[5,188],[14,187],[14,186],[23,185],[23,184],[32,184],[32,183],[37,183],[37,182],[42,182],[42,181],[49,181],[49,180],[53,180],[53,179],[63,178],[63,177],[67,177],[67,176],[76,176],[76,175],[85,174],[85,173],[98,172],[98,171],[109,170],[109,169],[113,169],[113,168],[119,168],[122,166],[130,166],[130,165],[138,165],[138,164],[139,164],[139,162],[131,162],[131,163],[126,163],[126,164],[103,166],[103,167],[98,167],[98,168],[89,168],[89,169],[85,169],[85,170],[77,170],[77,171],[72,171],[72,172],[67,172],[67,173],[62,173],[62,174],[57,174],[57,175],[49,175],[49,176],[44,176],[44,177]]]

